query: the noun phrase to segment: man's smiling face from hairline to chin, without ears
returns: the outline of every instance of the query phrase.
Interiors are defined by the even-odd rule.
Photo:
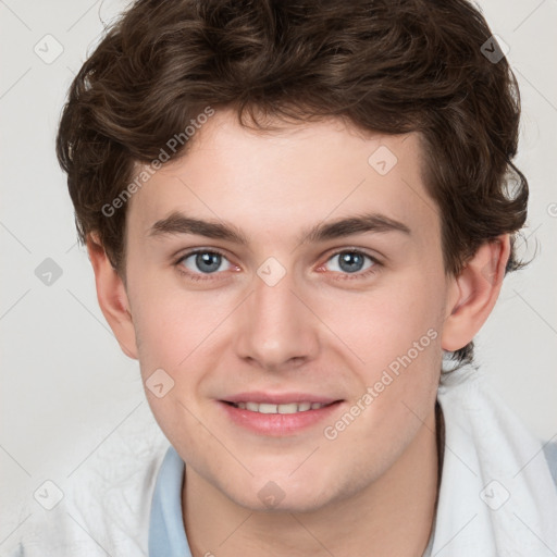
[[[196,134],[128,207],[147,397],[232,502],[318,509],[381,478],[433,410],[447,284],[419,138],[261,134],[227,111]]]

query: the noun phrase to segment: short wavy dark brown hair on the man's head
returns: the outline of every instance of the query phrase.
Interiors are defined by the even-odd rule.
[[[528,205],[511,162],[520,98],[505,57],[486,55],[500,53],[491,37],[466,0],[136,1],[84,63],[60,122],[79,239],[96,232],[125,280],[126,210],[107,218],[102,208],[203,108],[233,107],[260,128],[258,114],[419,132],[446,272],[504,233],[506,270],[518,269]],[[451,356],[471,362],[473,343]]]

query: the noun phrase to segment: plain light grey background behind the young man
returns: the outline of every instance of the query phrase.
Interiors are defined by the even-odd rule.
[[[138,363],[121,352],[98,307],[92,269],[76,244],[65,176],[54,157],[71,79],[99,40],[103,22],[124,5],[0,1],[0,554],[26,520],[18,511],[22,502],[33,500],[45,480],[63,486],[107,440],[125,443],[126,428],[146,426],[159,435]],[[521,86],[517,163],[531,186],[521,253],[536,257],[506,278],[476,338],[476,359],[530,430],[549,440],[557,435],[557,2],[480,5],[510,48]],[[50,60],[57,49],[63,51]],[[62,273],[52,275],[50,285],[36,275],[47,258]]]

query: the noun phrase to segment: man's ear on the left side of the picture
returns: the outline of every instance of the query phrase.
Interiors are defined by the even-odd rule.
[[[87,251],[95,271],[97,299],[102,314],[112,329],[122,351],[129,358],[137,359],[135,327],[124,283],[112,267],[95,233],[87,236]]]

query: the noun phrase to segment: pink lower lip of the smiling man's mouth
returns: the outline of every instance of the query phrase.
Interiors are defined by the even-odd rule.
[[[260,413],[250,410],[236,408],[222,400],[218,401],[224,409],[228,418],[243,428],[262,435],[280,437],[298,433],[301,430],[315,425],[317,423],[330,418],[336,412],[342,404],[341,400],[329,406],[323,406],[315,410],[306,410],[296,413]]]

